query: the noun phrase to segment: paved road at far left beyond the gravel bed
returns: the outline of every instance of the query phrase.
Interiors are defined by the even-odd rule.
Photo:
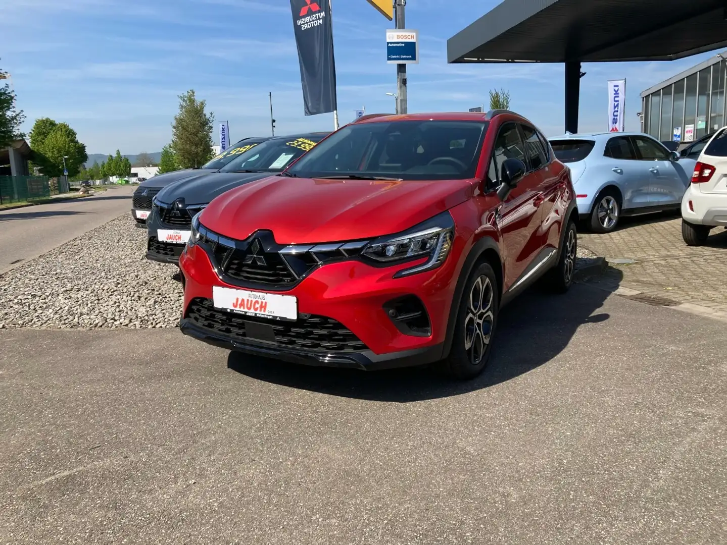
[[[81,199],[0,210],[0,273],[131,213],[136,186],[120,186]]]

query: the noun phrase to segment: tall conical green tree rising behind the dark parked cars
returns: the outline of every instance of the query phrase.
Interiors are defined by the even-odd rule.
[[[180,95],[180,111],[172,123],[172,149],[181,168],[196,168],[212,157],[214,114],[204,111],[206,102],[194,90]]]

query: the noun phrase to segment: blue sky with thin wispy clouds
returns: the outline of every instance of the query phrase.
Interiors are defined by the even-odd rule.
[[[462,111],[505,88],[513,110],[548,136],[563,133],[562,65],[447,65],[446,40],[498,0],[411,0],[421,63],[409,67],[409,111]],[[456,7],[452,7],[456,5]],[[342,122],[366,106],[392,112],[395,67],[385,62],[391,23],[365,0],[333,0]],[[69,123],[89,153],[156,152],[171,139],[177,95],[195,89],[233,139],[332,128],[303,115],[289,0],[0,0],[0,67],[28,120]],[[638,130],[640,91],[701,62],[586,64],[581,131],[606,128],[606,81],[627,78],[627,130]],[[216,136],[215,136],[216,138]]]

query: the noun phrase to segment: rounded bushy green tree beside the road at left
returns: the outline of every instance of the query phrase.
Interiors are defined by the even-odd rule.
[[[63,174],[63,159],[68,168],[68,176],[76,176],[81,165],[86,163],[86,146],[79,142],[78,135],[68,123],[55,123],[44,118],[36,121],[31,131],[33,163],[38,165],[46,176]]]

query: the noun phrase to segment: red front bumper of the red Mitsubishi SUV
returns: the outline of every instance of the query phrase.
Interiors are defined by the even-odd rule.
[[[211,324],[207,324],[209,327],[200,327],[200,324],[206,323],[204,320],[190,319],[190,303],[193,300],[211,302],[213,286],[249,288],[223,282],[217,276],[204,249],[198,245],[186,248],[179,265],[185,276],[184,314],[180,328],[186,335],[206,343],[297,363],[358,369],[421,365],[437,361],[443,356],[447,320],[457,279],[454,274],[457,269],[455,255],[449,255],[439,269],[398,279],[394,279],[393,274],[398,269],[412,266],[412,263],[379,269],[357,260],[334,262],[314,270],[290,290],[270,290],[272,293],[293,295],[297,298],[299,321],[305,320],[305,315],[337,321],[360,340],[364,347],[356,352],[331,353],[320,347],[310,350],[302,348],[301,344],[305,343],[284,345],[278,337],[275,342],[249,340],[238,334],[234,327],[212,327]],[[384,308],[392,300],[411,295],[418,298],[425,307],[430,323],[429,336],[402,332]],[[224,314],[225,311],[220,312]],[[245,320],[244,316],[238,314],[227,318]],[[225,316],[222,316],[220,321],[224,320]],[[302,325],[294,324],[294,327]],[[299,329],[301,332],[302,330]]]

